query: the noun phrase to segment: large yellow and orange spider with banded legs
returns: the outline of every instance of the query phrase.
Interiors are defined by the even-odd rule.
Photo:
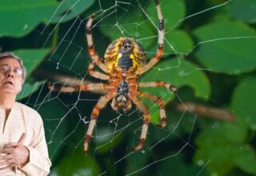
[[[104,59],[100,58],[94,50],[93,36],[91,26],[95,14],[92,14],[86,23],[86,39],[90,58],[92,59],[88,66],[88,73],[94,78],[106,81],[106,83],[88,83],[78,86],[54,86],[49,84],[49,89],[59,92],[78,92],[85,90],[106,90],[106,94],[99,98],[97,104],[90,116],[90,124],[86,131],[84,140],[84,152],[88,152],[90,138],[96,125],[98,114],[104,108],[107,102],[111,102],[114,110],[127,112],[132,103],[137,106],[143,114],[143,125],[140,141],[132,150],[141,150],[145,144],[146,134],[150,122],[150,113],[148,108],[138,100],[139,97],[147,98],[152,102],[158,103],[160,112],[160,127],[166,127],[166,111],[162,98],[148,92],[142,92],[140,87],[166,87],[174,94],[178,89],[167,82],[138,82],[138,78],[147,70],[150,70],[162,57],[164,45],[164,20],[162,10],[158,0],[154,0],[158,13],[158,50],[150,62],[147,62],[146,54],[142,46],[134,38],[118,38],[107,47]],[[103,61],[103,62],[102,62]],[[94,66],[102,71],[94,70]],[[104,73],[102,73],[104,72]]]

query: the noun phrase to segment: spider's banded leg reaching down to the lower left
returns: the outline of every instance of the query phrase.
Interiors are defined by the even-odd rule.
[[[88,152],[88,145],[90,142],[91,135],[93,134],[94,126],[96,125],[98,114],[102,108],[106,106],[106,103],[110,101],[111,98],[113,98],[114,95],[111,96],[111,94],[106,94],[105,96],[102,96],[99,98],[97,104],[94,106],[94,110],[92,111],[92,114],[90,116],[90,124],[86,131],[85,136],[85,142],[83,144],[84,153],[87,154]]]

